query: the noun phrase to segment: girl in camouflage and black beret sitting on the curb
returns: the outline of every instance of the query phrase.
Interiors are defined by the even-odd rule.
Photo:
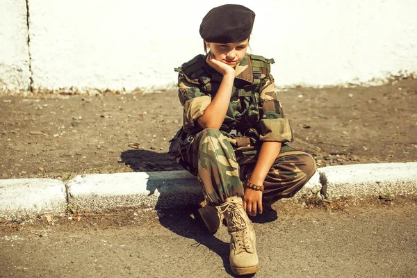
[[[224,5],[202,20],[206,55],[176,69],[183,126],[170,146],[202,186],[199,213],[208,231],[226,220],[236,275],[259,268],[247,215],[292,197],[316,171],[309,154],[286,145],[293,133],[270,75],[274,60],[247,54],[254,17],[244,6]]]

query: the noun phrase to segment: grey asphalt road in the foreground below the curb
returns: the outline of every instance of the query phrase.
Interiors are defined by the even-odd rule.
[[[415,203],[277,204],[254,221],[256,277],[417,277]],[[231,277],[226,227],[211,236],[200,221],[131,211],[2,223],[0,277]]]

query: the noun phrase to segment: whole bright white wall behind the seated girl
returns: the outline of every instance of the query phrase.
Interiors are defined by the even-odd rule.
[[[413,0],[28,1],[35,89],[166,88],[176,82],[174,67],[202,53],[199,24],[223,3],[254,10],[252,53],[275,58],[272,74],[279,86],[361,83],[417,72]],[[6,42],[10,49],[23,48],[13,43]],[[4,59],[0,53],[0,65]],[[0,84],[8,80],[2,74]]]

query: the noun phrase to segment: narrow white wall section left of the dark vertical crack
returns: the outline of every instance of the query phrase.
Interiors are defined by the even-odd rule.
[[[28,90],[30,85],[26,2],[0,2],[0,92]]]

